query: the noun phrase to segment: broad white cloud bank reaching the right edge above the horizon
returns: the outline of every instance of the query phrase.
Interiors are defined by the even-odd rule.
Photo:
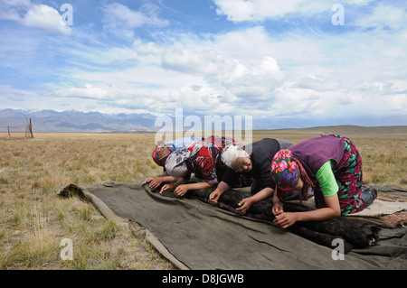
[[[185,114],[273,118],[288,111],[289,117],[347,119],[363,115],[361,107],[372,108],[375,115],[405,110],[396,105],[405,96],[404,63],[393,52],[401,53],[398,47],[407,37],[355,32],[273,39],[255,27],[208,38],[178,35],[171,41],[137,39],[128,48],[94,49],[90,59],[96,63],[137,64],[120,70],[74,70],[71,79],[92,84],[58,95],[128,111],[172,113],[183,107]],[[81,57],[88,59],[86,54]],[[384,96],[392,108],[384,105]]]

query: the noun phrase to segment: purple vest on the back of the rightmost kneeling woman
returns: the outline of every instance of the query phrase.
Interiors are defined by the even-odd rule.
[[[304,166],[311,180],[316,180],[316,175],[321,166],[328,160],[333,160],[335,165],[344,155],[345,142],[341,138],[321,136],[308,139],[288,148]]]

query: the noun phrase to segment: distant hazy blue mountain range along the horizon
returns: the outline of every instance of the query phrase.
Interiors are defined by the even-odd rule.
[[[10,127],[11,132],[25,132],[25,125],[31,118],[33,123],[33,133],[35,132],[137,132],[137,131],[158,131],[163,126],[156,126],[157,117],[152,114],[103,114],[99,112],[81,112],[78,110],[66,110],[57,112],[54,110],[15,110],[0,109],[0,132],[6,132]],[[176,125],[174,116],[171,121]],[[204,124],[204,116],[199,116]],[[403,123],[403,121],[398,121]],[[253,130],[270,130],[270,129],[317,129],[317,131],[339,131],[338,133],[351,134],[386,134],[386,133],[407,133],[407,125],[308,125],[300,127],[298,123],[289,123],[284,125],[272,122],[271,119],[253,119]],[[157,121],[157,125],[163,125]],[[235,124],[233,124],[235,125]],[[245,120],[242,120],[241,129],[244,130]],[[295,127],[295,128],[294,128]],[[327,130],[327,127],[329,129]],[[171,126],[169,128],[172,128]],[[190,129],[184,127],[185,130]],[[345,129],[345,130],[344,130]]]

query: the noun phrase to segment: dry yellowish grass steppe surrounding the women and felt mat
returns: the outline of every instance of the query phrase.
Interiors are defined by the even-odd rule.
[[[316,127],[253,131],[298,143],[322,133],[349,136],[364,163],[364,183],[407,188],[407,127]],[[0,269],[175,269],[143,237],[117,227],[79,198],[55,190],[75,183],[131,182],[156,175],[154,134],[0,134]],[[63,261],[70,238],[73,260]]]

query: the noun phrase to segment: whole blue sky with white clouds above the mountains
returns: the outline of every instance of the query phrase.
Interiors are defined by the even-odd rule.
[[[0,109],[407,125],[406,15],[403,0],[0,0]]]

